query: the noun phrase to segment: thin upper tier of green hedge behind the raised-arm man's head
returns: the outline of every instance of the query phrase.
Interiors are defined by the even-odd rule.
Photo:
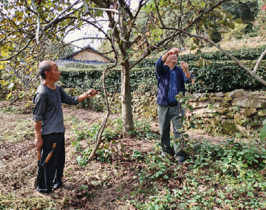
[[[228,50],[228,52],[234,55],[239,60],[256,60],[260,57],[262,52],[264,52],[266,45],[262,45],[258,48],[247,48],[240,50]],[[223,54],[220,50],[216,52],[202,52],[199,55],[191,54],[191,55],[180,55],[178,57],[179,62],[185,61],[188,62],[189,65],[194,64],[196,60],[200,57],[204,59],[208,59],[210,61],[225,61],[232,60],[227,55]],[[266,59],[266,57],[264,57]],[[145,68],[145,67],[153,67],[155,66],[158,58],[152,59],[144,59],[142,62],[136,65],[137,68]]]

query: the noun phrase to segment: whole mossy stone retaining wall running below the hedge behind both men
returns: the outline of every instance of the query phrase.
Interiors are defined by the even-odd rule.
[[[113,94],[109,93],[109,99]],[[200,123],[197,127],[209,133],[221,133],[248,137],[256,129],[262,127],[265,120],[266,96],[261,92],[218,92],[216,94],[197,93],[188,102],[193,106],[193,112],[187,111],[186,117],[195,116]],[[99,106],[104,107],[104,98],[99,94],[94,98]],[[100,104],[102,103],[102,104]],[[116,94],[113,108],[121,107],[120,93]],[[146,118],[158,119],[156,95],[145,92],[141,95],[132,94],[132,111]]]

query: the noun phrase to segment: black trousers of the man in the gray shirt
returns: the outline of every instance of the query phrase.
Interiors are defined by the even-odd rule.
[[[55,152],[52,158],[46,163],[41,174],[40,184],[37,191],[49,193],[52,188],[57,189],[62,185],[62,175],[64,172],[64,133],[53,133],[42,135],[43,148],[41,148],[41,165],[45,162],[45,158],[50,153],[52,144],[56,143]]]

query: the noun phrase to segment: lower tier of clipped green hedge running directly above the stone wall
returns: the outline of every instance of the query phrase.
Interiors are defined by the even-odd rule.
[[[248,68],[253,69],[255,61],[245,61]],[[61,73],[61,83],[64,88],[88,88],[102,87],[102,69],[66,69],[59,68]],[[266,78],[266,61],[262,61],[258,69],[258,75]],[[193,92],[228,92],[236,89],[261,90],[265,88],[255,78],[241,69],[235,62],[211,62],[208,66],[197,67],[190,64],[190,71],[195,76],[196,84],[192,86]],[[106,76],[106,86],[115,83],[120,84],[120,69],[114,69]],[[204,84],[202,84],[202,83]],[[155,65],[153,68],[135,68],[130,71],[130,87],[132,91],[139,93],[151,92],[157,94],[157,80]],[[186,86],[191,90],[191,85]],[[110,90],[111,92],[114,91]],[[120,91],[120,90],[118,90]]]

